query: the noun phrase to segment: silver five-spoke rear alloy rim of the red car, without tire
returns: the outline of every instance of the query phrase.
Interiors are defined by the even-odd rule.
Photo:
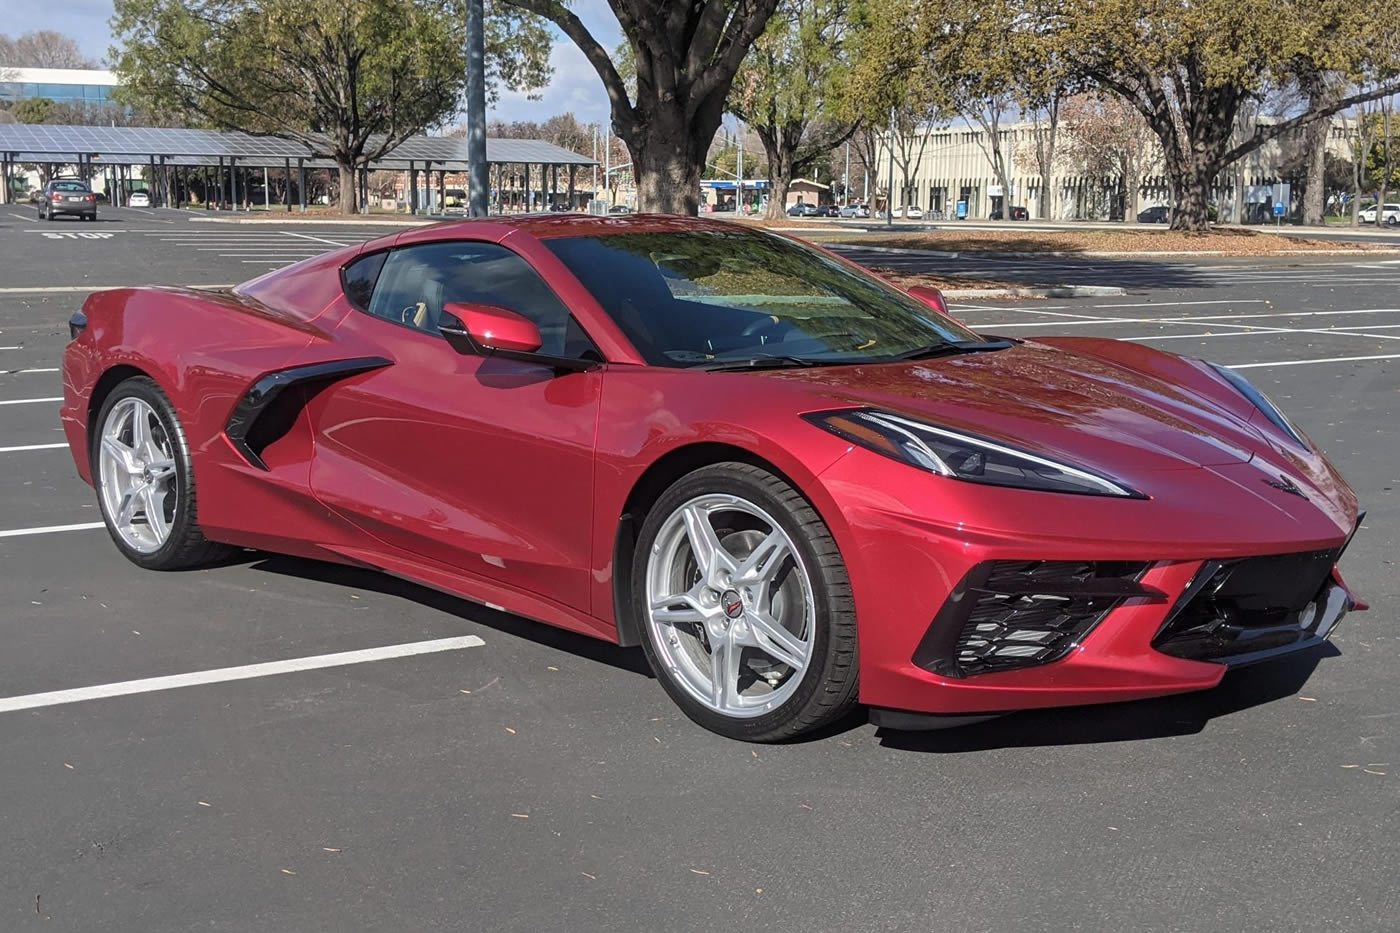
[[[140,553],[161,549],[175,520],[175,454],[155,409],[112,406],[98,437],[98,490],[108,524]]]

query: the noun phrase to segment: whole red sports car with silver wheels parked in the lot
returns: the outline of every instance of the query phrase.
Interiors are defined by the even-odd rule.
[[[722,221],[448,223],[71,331],[133,562],[378,567],[640,644],[738,738],[1205,689],[1364,608],[1355,496],[1233,371]]]

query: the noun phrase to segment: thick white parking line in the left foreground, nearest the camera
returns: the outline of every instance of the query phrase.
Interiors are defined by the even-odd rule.
[[[91,699],[130,696],[132,693],[154,693],[157,691],[174,691],[182,686],[202,686],[204,684],[227,684],[228,681],[246,681],[256,677],[294,674],[297,671],[315,671],[326,667],[346,667],[347,664],[386,661],[389,658],[413,657],[416,654],[459,651],[462,649],[480,647],[483,644],[486,644],[486,642],[476,637],[475,635],[462,635],[451,639],[433,639],[431,642],[406,642],[403,644],[386,644],[384,647],[363,649],[360,651],[314,654],[311,657],[294,657],[286,661],[266,661],[263,664],[220,667],[210,671],[193,671],[190,674],[171,674],[167,677],[147,677],[140,681],[119,681],[116,684],[98,684],[95,686],[80,686],[69,691],[52,691],[49,693],[7,696],[4,699],[0,699],[0,713],[14,713],[21,709],[39,709],[42,706],[62,706],[64,703],[81,703],[84,700],[91,700]]]

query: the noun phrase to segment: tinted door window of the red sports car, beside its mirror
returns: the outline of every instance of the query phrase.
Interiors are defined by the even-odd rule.
[[[539,328],[542,353],[577,357],[592,349],[539,273],[505,247],[489,242],[431,242],[395,249],[384,262],[368,311],[437,333],[442,307],[452,301],[494,304],[525,315]]]

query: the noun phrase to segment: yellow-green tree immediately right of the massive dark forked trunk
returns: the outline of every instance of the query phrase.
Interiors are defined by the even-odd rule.
[[[781,219],[792,179],[855,132],[827,116],[844,91],[847,0],[784,0],[734,81],[729,111],[763,143],[769,217]]]

